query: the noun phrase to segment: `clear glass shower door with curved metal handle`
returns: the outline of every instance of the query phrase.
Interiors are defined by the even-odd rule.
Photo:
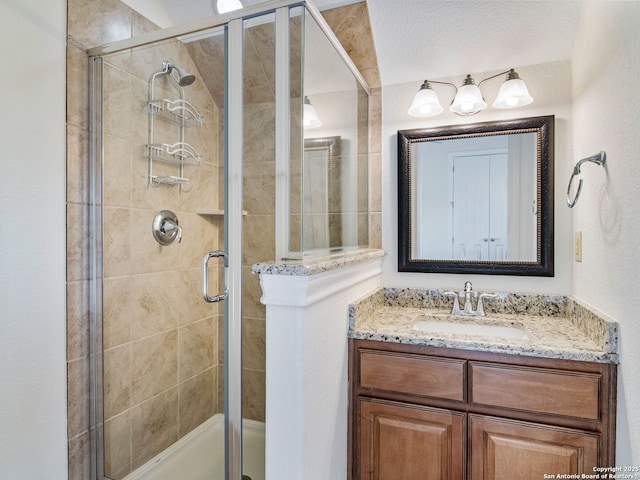
[[[202,298],[203,255],[222,247],[225,92],[211,72],[225,68],[224,30],[208,33],[207,55],[170,39],[93,60],[106,478],[171,477],[160,464],[186,480],[224,478],[225,322]],[[208,273],[215,295],[222,262]],[[212,454],[194,461],[197,442]]]

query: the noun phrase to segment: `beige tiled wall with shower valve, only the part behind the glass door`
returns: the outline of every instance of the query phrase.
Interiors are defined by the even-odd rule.
[[[216,412],[218,306],[201,297],[201,260],[216,250],[218,112],[203,83],[185,87],[203,114],[185,140],[202,164],[185,167],[186,188],[148,186],[148,78],[168,59],[198,75],[181,42],[107,57],[104,75],[104,399],[106,470],[121,478]],[[179,93],[166,75],[157,97]],[[172,144],[180,129],[156,118],[154,141]],[[179,168],[154,162],[154,173]],[[158,210],[176,212],[182,242],[150,234]],[[215,267],[217,269],[217,267]],[[217,272],[211,275],[217,278]],[[211,291],[217,291],[212,282]]]

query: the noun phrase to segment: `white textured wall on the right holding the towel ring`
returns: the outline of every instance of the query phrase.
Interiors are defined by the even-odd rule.
[[[640,269],[640,3],[586,2],[573,63],[574,158],[607,152],[607,167],[586,164],[573,227],[582,232],[574,264],[577,297],[620,322],[617,464],[640,464],[638,307]],[[567,181],[562,178],[563,183]]]

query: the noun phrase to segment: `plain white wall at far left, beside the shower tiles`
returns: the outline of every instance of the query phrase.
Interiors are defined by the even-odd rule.
[[[65,2],[0,3],[2,478],[67,478]]]

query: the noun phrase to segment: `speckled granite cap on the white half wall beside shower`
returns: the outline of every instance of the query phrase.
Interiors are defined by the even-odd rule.
[[[304,260],[256,263],[251,268],[251,272],[268,275],[307,276],[381,257],[384,257],[384,250],[362,249]]]

